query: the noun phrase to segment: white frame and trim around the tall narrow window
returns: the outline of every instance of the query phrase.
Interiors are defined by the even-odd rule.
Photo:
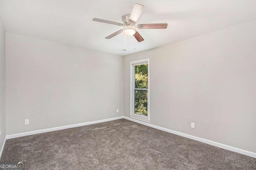
[[[135,88],[135,67],[134,65],[148,64],[148,116],[137,115],[134,113],[134,88]],[[149,58],[130,62],[130,118],[138,119],[150,123],[150,73],[149,73]]]

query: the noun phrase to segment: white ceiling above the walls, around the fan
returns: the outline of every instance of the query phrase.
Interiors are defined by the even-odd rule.
[[[107,40],[134,3],[145,6],[137,24],[168,23],[167,29],[138,30],[143,42],[124,34]],[[85,49],[127,55],[256,19],[256,0],[1,0],[6,32]]]

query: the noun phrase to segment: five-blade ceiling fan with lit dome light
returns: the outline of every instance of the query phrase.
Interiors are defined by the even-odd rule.
[[[126,36],[134,36],[138,42],[144,41],[142,36],[137,32],[136,28],[138,29],[166,29],[168,24],[167,23],[162,23],[162,24],[138,24],[135,26],[135,23],[137,22],[138,18],[140,17],[140,14],[142,13],[144,9],[144,6],[141,4],[134,4],[132,13],[131,14],[126,14],[122,16],[122,21],[124,24],[118,23],[118,22],[113,22],[113,21],[108,21],[108,20],[102,20],[99,18],[93,18],[93,21],[98,21],[98,22],[104,22],[107,24],[114,24],[117,26],[124,26],[126,28],[119,30],[110,36],[107,36],[106,39],[113,38],[114,36],[120,34],[121,32],[124,32]]]

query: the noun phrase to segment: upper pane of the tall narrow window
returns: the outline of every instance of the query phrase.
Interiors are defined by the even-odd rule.
[[[135,89],[148,89],[148,64],[136,65]]]

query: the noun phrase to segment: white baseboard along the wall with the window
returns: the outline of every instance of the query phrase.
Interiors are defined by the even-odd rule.
[[[159,130],[163,130],[165,132],[176,134],[178,136],[183,136],[185,138],[190,138],[190,139],[193,139],[193,140],[197,140],[199,142],[203,142],[203,143],[206,143],[206,144],[217,146],[219,148],[223,148],[223,149],[226,149],[226,150],[230,150],[230,151],[233,151],[233,152],[237,152],[237,153],[240,153],[240,154],[244,154],[244,155],[256,158],[256,153],[250,152],[248,150],[243,150],[243,149],[235,148],[233,146],[228,146],[226,144],[221,144],[221,143],[218,143],[218,142],[214,142],[212,140],[207,140],[207,139],[204,139],[204,138],[199,138],[199,137],[196,137],[196,136],[192,136],[190,134],[185,134],[185,133],[182,133],[182,132],[177,132],[177,131],[174,131],[174,130],[170,130],[168,128],[158,127],[156,125],[152,125],[150,123],[146,123],[146,122],[143,122],[143,121],[132,119],[130,117],[124,116],[124,119],[127,119],[129,121],[133,121],[133,122],[136,122],[136,123],[140,123],[140,124],[148,126],[148,127],[152,127],[152,128],[156,128],[156,129],[159,129]]]

